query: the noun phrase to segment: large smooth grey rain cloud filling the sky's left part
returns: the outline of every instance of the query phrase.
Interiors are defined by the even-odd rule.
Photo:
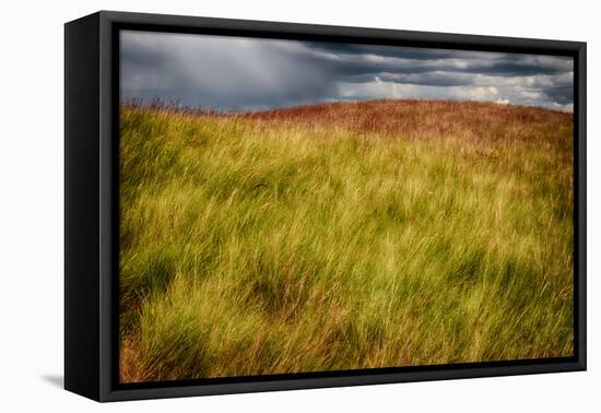
[[[335,85],[285,43],[240,38],[123,34],[123,97],[179,99],[236,109],[313,103]]]

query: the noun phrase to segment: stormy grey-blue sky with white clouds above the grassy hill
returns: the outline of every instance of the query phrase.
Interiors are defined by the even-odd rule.
[[[567,57],[121,32],[121,97],[217,110],[381,98],[573,110]]]

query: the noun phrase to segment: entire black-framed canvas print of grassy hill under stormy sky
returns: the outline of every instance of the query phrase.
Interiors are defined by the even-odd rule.
[[[586,369],[586,44],[66,24],[64,387]]]

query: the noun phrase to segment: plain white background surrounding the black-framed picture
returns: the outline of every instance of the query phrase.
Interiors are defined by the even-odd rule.
[[[22,0],[0,8],[1,411],[599,411],[601,30],[594,1]],[[62,24],[101,9],[588,42],[589,371],[116,404],[62,390]]]

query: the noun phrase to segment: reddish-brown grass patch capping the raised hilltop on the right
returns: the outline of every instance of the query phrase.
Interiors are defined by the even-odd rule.
[[[570,123],[571,114],[529,106],[450,101],[365,101],[298,106],[243,115],[248,119],[346,127],[354,131],[412,137],[505,140],[547,135],[541,128]],[[532,133],[528,133],[531,130]],[[527,133],[525,133],[527,132]]]

